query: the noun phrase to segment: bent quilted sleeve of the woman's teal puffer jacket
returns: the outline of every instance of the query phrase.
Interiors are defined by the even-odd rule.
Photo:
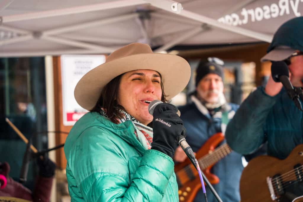
[[[137,170],[131,171],[126,147],[129,145],[122,139],[99,127],[90,127],[80,135],[68,166],[85,201],[162,200],[174,171],[172,159],[148,150]],[[130,172],[135,172],[132,180]],[[76,196],[72,198],[77,201]]]

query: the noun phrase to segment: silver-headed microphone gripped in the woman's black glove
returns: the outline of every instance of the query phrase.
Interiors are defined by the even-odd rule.
[[[151,103],[149,103],[149,105],[148,105],[148,112],[149,112],[149,114],[153,115],[156,106],[158,106],[158,104],[162,104],[162,103],[163,102],[160,101],[160,100],[151,101]],[[177,114],[178,114],[178,116],[180,116],[180,111],[178,110],[178,112],[177,112]],[[183,149],[183,151],[185,152],[185,154],[189,157],[189,159],[191,161],[194,161],[196,159],[196,157],[194,155],[194,152],[192,151],[192,149],[189,146],[189,144],[186,142],[185,137],[183,135],[179,135],[179,137],[178,137],[178,144],[180,145],[180,147]]]

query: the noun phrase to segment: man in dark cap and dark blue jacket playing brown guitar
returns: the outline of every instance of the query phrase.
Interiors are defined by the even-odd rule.
[[[303,17],[281,25],[267,52],[261,61],[285,61],[293,86],[303,87]],[[267,141],[268,154],[285,159],[297,145],[303,144],[303,113],[282,87],[270,77],[265,88],[258,87],[241,104],[226,129],[226,140],[234,151],[249,154]],[[294,181],[284,191],[284,195],[276,197],[291,201],[302,195],[303,185]]]

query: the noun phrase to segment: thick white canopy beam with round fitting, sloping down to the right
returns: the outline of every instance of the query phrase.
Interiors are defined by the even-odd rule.
[[[144,1],[150,3],[152,6],[155,6],[156,8],[161,8],[168,12],[176,13],[176,14],[184,16],[186,18],[196,20],[198,22],[207,23],[208,25],[212,25],[214,27],[225,29],[225,30],[228,30],[231,32],[235,32],[237,34],[255,38],[255,39],[258,39],[261,41],[266,41],[269,43],[272,40],[272,35],[262,34],[262,33],[251,31],[251,30],[244,29],[244,28],[226,25],[226,24],[218,22],[217,20],[214,20],[212,18],[208,18],[203,15],[199,15],[194,12],[184,10],[182,8],[182,5],[178,2],[174,2],[174,1],[170,1],[170,0],[144,0]]]

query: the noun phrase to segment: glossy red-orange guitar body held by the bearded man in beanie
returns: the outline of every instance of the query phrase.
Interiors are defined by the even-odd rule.
[[[220,144],[223,140],[224,135],[222,133],[216,133],[211,136],[196,153],[196,159],[199,159],[205,156],[206,154],[209,154],[211,151],[214,151],[218,144]],[[175,173],[178,177],[178,180],[181,182],[181,186],[179,186],[178,191],[179,200],[191,202],[194,200],[198,190],[201,189],[202,185],[197,171],[193,171],[193,173],[195,174],[194,180],[189,180],[186,176],[182,177],[181,175],[178,175],[178,171],[181,171],[184,167],[188,165],[191,165],[191,161],[187,158],[184,162],[175,165]],[[218,184],[219,178],[216,175],[211,174],[210,172],[210,169],[211,167],[213,167],[213,165],[214,164],[204,169],[203,173],[211,184]],[[191,170],[195,170],[194,166],[191,167]]]

